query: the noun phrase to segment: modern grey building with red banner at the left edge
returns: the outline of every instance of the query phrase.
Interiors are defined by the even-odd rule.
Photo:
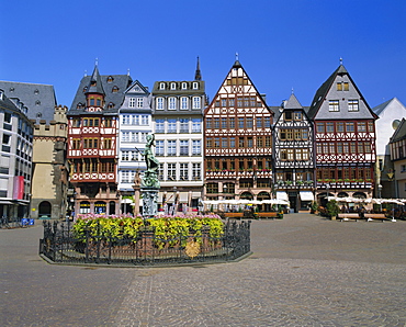
[[[0,215],[30,216],[34,126],[27,108],[0,89]]]

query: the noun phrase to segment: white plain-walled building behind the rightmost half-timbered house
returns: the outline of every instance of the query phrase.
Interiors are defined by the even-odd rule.
[[[379,116],[376,127],[376,165],[375,165],[375,191],[381,189],[381,196],[396,198],[395,168],[391,160],[390,140],[394,132],[406,117],[405,105],[396,98],[393,98],[372,111]],[[381,187],[380,187],[381,185]],[[375,196],[379,194],[376,193]]]

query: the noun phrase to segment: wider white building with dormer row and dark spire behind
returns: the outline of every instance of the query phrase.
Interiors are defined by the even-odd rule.
[[[159,210],[198,208],[203,196],[203,111],[205,86],[194,80],[157,81],[153,90],[156,157],[160,162]]]

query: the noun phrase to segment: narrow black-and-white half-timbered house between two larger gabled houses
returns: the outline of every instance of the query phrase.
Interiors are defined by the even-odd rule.
[[[313,122],[292,93],[283,101],[273,125],[274,191],[295,212],[314,201]]]

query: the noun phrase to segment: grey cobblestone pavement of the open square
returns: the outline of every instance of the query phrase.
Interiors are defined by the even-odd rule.
[[[179,268],[53,266],[0,230],[1,326],[406,326],[406,222],[252,222],[253,255]]]

